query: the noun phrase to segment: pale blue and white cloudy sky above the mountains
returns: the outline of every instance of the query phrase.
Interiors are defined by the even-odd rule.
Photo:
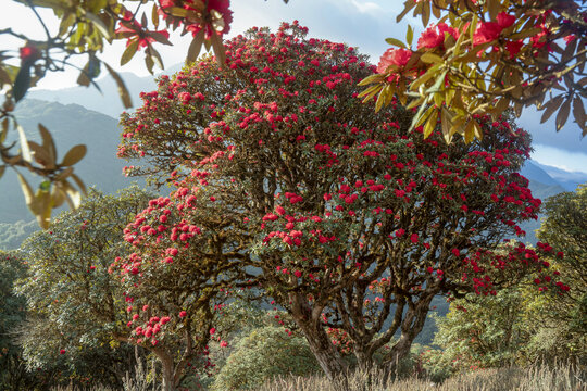
[[[14,1],[2,2],[0,28],[11,26],[33,38],[43,37],[40,24],[36,23],[29,10]],[[360,52],[371,56],[373,63],[377,63],[379,55],[389,48],[385,38],[403,39],[408,24],[415,28],[416,37],[423,28],[419,20],[410,17],[396,23],[402,3],[400,0],[289,0],[289,3],[285,4],[282,0],[233,0],[234,22],[228,37],[241,34],[252,26],[268,26],[275,30],[282,21],[298,20],[301,25],[309,27],[311,36],[358,47]],[[150,5],[147,10],[150,10]],[[48,21],[49,29],[55,30],[59,21],[50,11],[46,11],[41,12],[41,15]],[[2,37],[2,48],[15,45],[5,37]],[[174,42],[173,47],[158,46],[166,67],[184,61],[190,37],[179,37],[179,34],[175,33],[172,34],[171,41]],[[117,71],[147,76],[141,53],[137,53],[124,67],[117,66],[123,51],[124,42],[116,42],[107,48],[100,56],[109,64],[116,65],[114,68]],[[79,65],[83,66],[83,62]],[[55,73],[41,80],[39,88],[72,87],[76,78],[77,72]],[[554,116],[546,124],[540,124],[540,115],[541,113],[530,109],[517,121],[521,127],[533,135],[535,152],[532,157],[538,163],[561,169],[587,173],[587,140],[582,140],[578,126],[570,118],[567,125],[557,133]]]

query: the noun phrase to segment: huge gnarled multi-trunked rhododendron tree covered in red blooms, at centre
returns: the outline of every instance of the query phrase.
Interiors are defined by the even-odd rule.
[[[548,272],[523,247],[492,253],[537,218],[540,201],[516,173],[525,131],[478,117],[483,141],[424,139],[397,101],[377,113],[361,103],[357,83],[374,68],[361,54],[305,35],[296,22],[253,28],[227,42],[225,68],[204,60],[161,77],[123,116],[120,155],[138,160],[128,175],[174,187],[127,231],[141,267],[157,254],[157,274],[137,267],[137,283],[166,267],[193,278],[239,269],[235,281],[286,308],[333,377],[345,363],[328,329],[365,365],[399,330],[395,361],[435,295],[495,294]],[[179,266],[172,249],[193,264]]]

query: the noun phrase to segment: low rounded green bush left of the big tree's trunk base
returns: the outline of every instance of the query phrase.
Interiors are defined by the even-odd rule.
[[[302,376],[317,370],[320,367],[302,337],[289,336],[283,327],[267,326],[252,330],[237,342],[212,390],[258,389],[274,376]]]

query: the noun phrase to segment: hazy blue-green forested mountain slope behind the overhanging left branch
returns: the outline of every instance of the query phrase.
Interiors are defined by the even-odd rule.
[[[26,99],[16,106],[15,115],[30,140],[39,140],[38,123],[42,123],[53,135],[58,155],[63,155],[75,144],[88,147],[86,156],[75,166],[75,173],[86,186],[96,186],[104,192],[114,192],[127,187],[132,180],[122,175],[125,161],[116,157],[120,140],[117,121],[87,110],[78,104],[61,104]],[[11,133],[15,136],[15,133]],[[39,179],[23,173],[33,187]],[[21,186],[13,169],[7,169],[0,180],[0,223],[28,222],[28,212]]]

